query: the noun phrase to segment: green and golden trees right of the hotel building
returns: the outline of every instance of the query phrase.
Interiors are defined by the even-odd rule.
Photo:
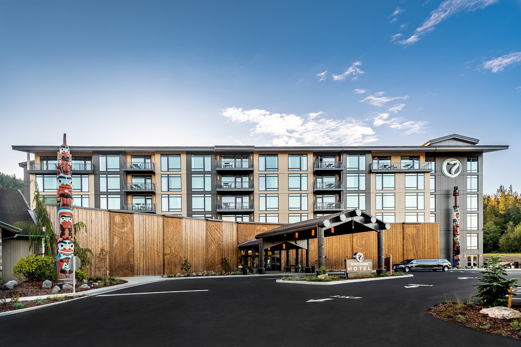
[[[483,251],[521,252],[521,195],[512,186],[483,194]]]

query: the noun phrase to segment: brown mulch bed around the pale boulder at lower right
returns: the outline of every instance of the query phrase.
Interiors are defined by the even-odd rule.
[[[512,309],[521,312],[521,307],[512,307]],[[489,317],[488,314],[479,313],[479,311],[481,311],[481,306],[476,305],[464,305],[460,310],[460,312],[456,312],[455,303],[441,303],[432,307],[430,314],[437,318],[446,320],[447,322],[512,337],[514,339],[521,339],[519,331],[512,328],[510,325],[514,319],[499,319]],[[452,318],[447,316],[448,312],[453,313]],[[464,321],[461,319],[461,317],[458,317],[460,314],[465,318]],[[460,318],[460,320],[458,320],[458,318]],[[488,324],[490,324],[490,328],[480,328]]]

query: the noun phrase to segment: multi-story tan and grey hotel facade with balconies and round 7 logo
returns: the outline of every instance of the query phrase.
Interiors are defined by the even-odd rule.
[[[483,153],[508,148],[478,143],[453,134],[421,146],[70,146],[73,201],[261,223],[356,208],[389,223],[439,223],[440,256],[451,259],[457,186],[462,265],[476,265],[483,248]],[[56,203],[57,147],[13,146],[27,152],[20,166],[28,201],[37,183],[44,201]]]

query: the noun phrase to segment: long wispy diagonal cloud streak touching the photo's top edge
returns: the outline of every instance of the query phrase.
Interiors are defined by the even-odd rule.
[[[461,11],[470,12],[485,8],[497,2],[499,2],[499,0],[446,0],[442,2],[437,9],[430,12],[430,17],[421,24],[421,27],[416,29],[414,35],[407,38],[407,40],[401,40],[398,42],[402,45],[412,45],[415,42],[418,42],[422,36],[433,31],[435,25],[452,15]]]

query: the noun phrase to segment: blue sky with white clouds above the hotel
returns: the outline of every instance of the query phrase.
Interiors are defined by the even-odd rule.
[[[485,145],[521,190],[521,1],[0,2],[11,145]],[[151,122],[151,120],[154,120]],[[29,130],[28,130],[29,128]],[[514,156],[515,157],[515,156]]]

